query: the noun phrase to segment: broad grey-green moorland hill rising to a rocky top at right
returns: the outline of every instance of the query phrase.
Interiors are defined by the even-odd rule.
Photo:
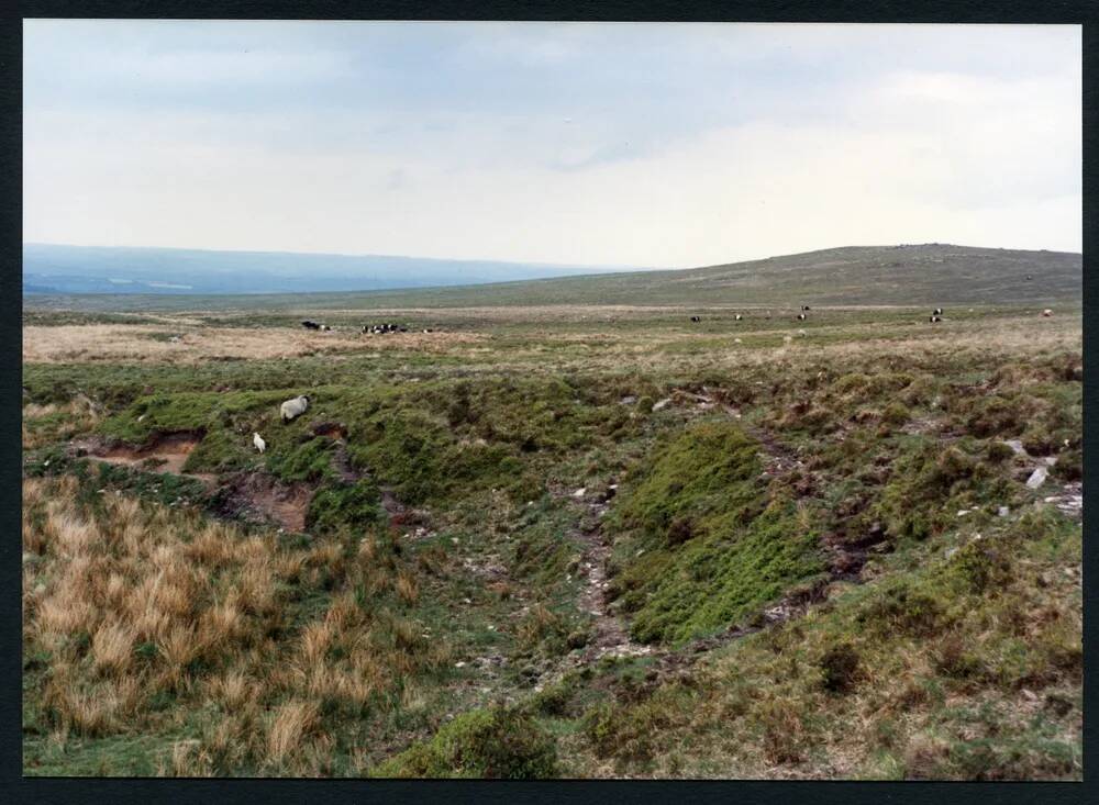
[[[1079,302],[1075,253],[944,244],[848,246],[706,268],[369,293],[243,298],[43,297],[40,306],[97,310],[442,308],[526,304],[934,305]]]

